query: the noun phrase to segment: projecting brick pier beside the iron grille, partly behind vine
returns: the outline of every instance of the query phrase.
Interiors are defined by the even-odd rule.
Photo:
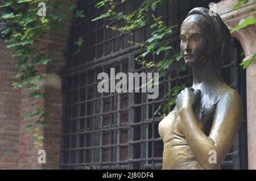
[[[76,1],[71,1],[73,4]],[[59,72],[65,65],[64,51],[67,47],[69,26],[71,23],[72,12],[64,10],[55,10],[69,12],[68,20],[64,24],[61,32],[55,30],[49,30],[48,35],[44,38],[44,41],[38,44],[39,49],[44,48],[44,53],[48,54],[49,58],[53,61],[49,62],[47,66],[42,66],[40,71],[47,76],[44,82],[44,90],[50,94],[44,100],[40,100],[38,108],[45,108],[47,113],[50,113],[51,117],[46,119],[47,127],[40,132],[44,136],[43,147],[35,148],[32,137],[32,132],[22,132],[20,134],[19,143],[19,169],[59,169],[60,165],[60,147],[61,147],[61,116],[63,95],[61,94],[61,77]],[[51,12],[48,12],[51,13]],[[26,89],[22,90],[22,103],[21,112],[30,110],[31,98],[28,98],[29,94]],[[21,115],[20,115],[21,116]],[[20,126],[24,127],[30,123],[30,119],[24,119],[20,117]],[[46,151],[46,164],[38,163],[38,150],[43,149]]]

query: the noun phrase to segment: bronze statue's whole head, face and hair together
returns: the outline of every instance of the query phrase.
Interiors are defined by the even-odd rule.
[[[191,10],[181,24],[180,49],[185,63],[202,66],[213,60],[220,66],[228,58],[231,36],[219,15],[203,7]]]

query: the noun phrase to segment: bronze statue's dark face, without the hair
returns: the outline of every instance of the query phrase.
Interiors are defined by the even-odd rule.
[[[180,49],[185,63],[202,66],[209,54],[209,23],[203,15],[191,15],[181,25]]]

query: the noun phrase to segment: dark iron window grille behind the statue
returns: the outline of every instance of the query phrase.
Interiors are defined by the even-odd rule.
[[[90,22],[104,10],[94,8],[97,1],[77,1],[85,19],[74,19],[69,35],[66,69],[63,72],[63,128],[61,139],[61,169],[161,169],[163,142],[158,133],[160,117],[154,112],[162,103],[161,95],[176,85],[177,65],[160,79],[159,98],[147,99],[147,93],[99,93],[98,73],[148,71],[134,59],[142,52],[127,41],[144,41],[150,36],[148,26],[138,28],[133,35],[120,35],[104,28],[107,20]],[[118,9],[129,13],[142,1],[130,0]],[[166,24],[178,24],[196,6],[207,7],[212,1],[172,1],[159,6],[156,16],[162,15]],[[218,1],[215,1],[218,2]],[[170,14],[172,12],[172,14]],[[125,26],[122,21],[113,24]],[[174,47],[179,50],[179,30],[173,35]],[[80,52],[74,44],[80,37],[85,43]],[[166,39],[167,41],[170,39]],[[225,82],[246,97],[245,74],[238,66],[241,48],[234,42],[233,59],[221,68]],[[163,58],[149,55],[148,60]],[[191,85],[191,69],[181,73],[179,81]],[[246,100],[243,100],[245,103]],[[245,106],[244,106],[245,107]],[[172,108],[166,111],[170,112]],[[222,169],[246,169],[246,113],[241,131],[232,150],[222,163]]]

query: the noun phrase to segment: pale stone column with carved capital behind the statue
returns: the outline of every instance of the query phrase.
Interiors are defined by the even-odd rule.
[[[237,1],[225,0],[210,6],[210,10],[217,12],[229,29],[243,23],[247,18],[254,19],[256,14],[256,0],[250,0],[239,10],[233,10]],[[247,26],[238,32],[232,33],[242,45],[245,59],[249,60],[256,53],[256,24]],[[256,64],[246,69],[247,84],[247,138],[248,138],[248,168],[256,169]]]

